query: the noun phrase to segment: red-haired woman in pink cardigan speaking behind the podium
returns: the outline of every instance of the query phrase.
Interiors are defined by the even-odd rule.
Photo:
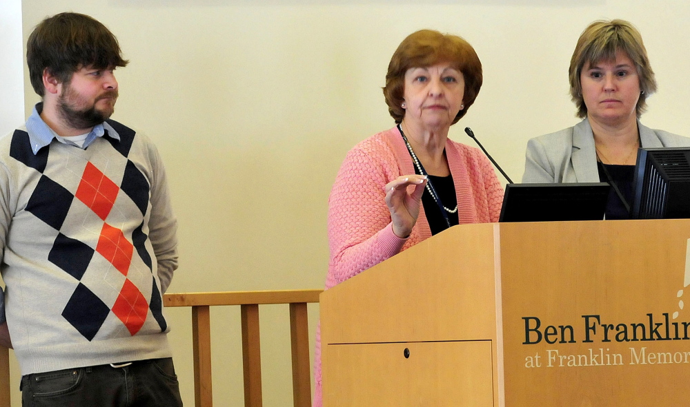
[[[348,152],[328,199],[326,289],[464,223],[497,222],[503,189],[480,150],[448,139],[482,87],[459,36],[421,30],[398,46],[384,96],[396,126]],[[317,328],[314,406],[322,405]]]

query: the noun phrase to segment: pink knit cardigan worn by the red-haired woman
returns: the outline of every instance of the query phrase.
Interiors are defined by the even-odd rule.
[[[491,162],[479,149],[446,141],[460,224],[497,222],[503,189]],[[375,134],[348,152],[328,198],[328,262],[326,289],[373,267],[431,237],[424,207],[406,239],[393,233],[384,186],[398,176],[415,174],[397,127]],[[322,406],[321,329],[315,349],[314,406]]]

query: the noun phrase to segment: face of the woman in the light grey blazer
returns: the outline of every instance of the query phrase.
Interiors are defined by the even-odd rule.
[[[637,120],[640,78],[635,63],[622,51],[615,61],[584,64],[580,72],[582,98],[587,117],[604,125],[622,125]]]

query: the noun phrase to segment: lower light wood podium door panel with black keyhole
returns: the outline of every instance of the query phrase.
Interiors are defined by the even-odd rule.
[[[408,357],[405,357],[405,350]],[[338,382],[344,406],[493,406],[490,341],[334,346],[353,371]],[[466,368],[457,368],[462,360]],[[375,391],[372,392],[371,388]]]

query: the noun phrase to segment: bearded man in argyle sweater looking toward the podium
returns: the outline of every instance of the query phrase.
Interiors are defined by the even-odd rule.
[[[26,48],[42,101],[0,139],[0,338],[23,405],[181,406],[162,306],[177,269],[166,174],[146,136],[110,120],[128,61],[73,12]]]

